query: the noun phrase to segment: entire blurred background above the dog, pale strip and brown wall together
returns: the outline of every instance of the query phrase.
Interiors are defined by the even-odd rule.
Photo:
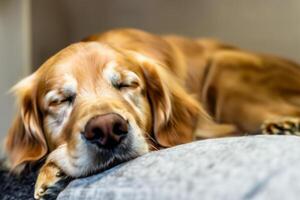
[[[118,27],[213,37],[300,61],[299,0],[0,0],[0,140],[15,113],[9,88],[49,56]]]

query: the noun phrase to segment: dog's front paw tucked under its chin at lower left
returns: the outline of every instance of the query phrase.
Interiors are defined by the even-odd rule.
[[[56,165],[47,163],[39,172],[34,188],[34,198],[39,200],[56,199],[70,180]]]

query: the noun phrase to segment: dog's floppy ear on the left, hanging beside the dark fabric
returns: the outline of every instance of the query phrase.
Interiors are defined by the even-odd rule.
[[[37,106],[35,74],[12,88],[17,97],[18,113],[6,137],[6,152],[12,171],[21,172],[26,164],[47,153]]]

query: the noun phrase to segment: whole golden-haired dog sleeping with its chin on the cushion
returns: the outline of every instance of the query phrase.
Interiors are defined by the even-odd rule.
[[[44,160],[35,198],[196,139],[299,135],[300,67],[210,39],[136,29],[92,35],[12,91],[19,112],[6,151],[13,172]]]

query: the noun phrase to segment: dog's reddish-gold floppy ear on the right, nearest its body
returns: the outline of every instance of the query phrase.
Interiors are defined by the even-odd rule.
[[[142,59],[141,65],[157,142],[170,147],[192,141],[198,120],[209,116],[167,67],[149,59]]]

